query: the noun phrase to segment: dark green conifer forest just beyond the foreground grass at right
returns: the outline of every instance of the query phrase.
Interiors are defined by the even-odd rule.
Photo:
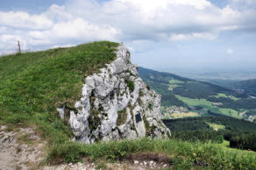
[[[256,124],[232,117],[189,117],[163,120],[174,138],[186,141],[230,141],[231,147],[256,151]],[[218,127],[213,131],[212,125]],[[217,124],[217,126],[216,126]]]

